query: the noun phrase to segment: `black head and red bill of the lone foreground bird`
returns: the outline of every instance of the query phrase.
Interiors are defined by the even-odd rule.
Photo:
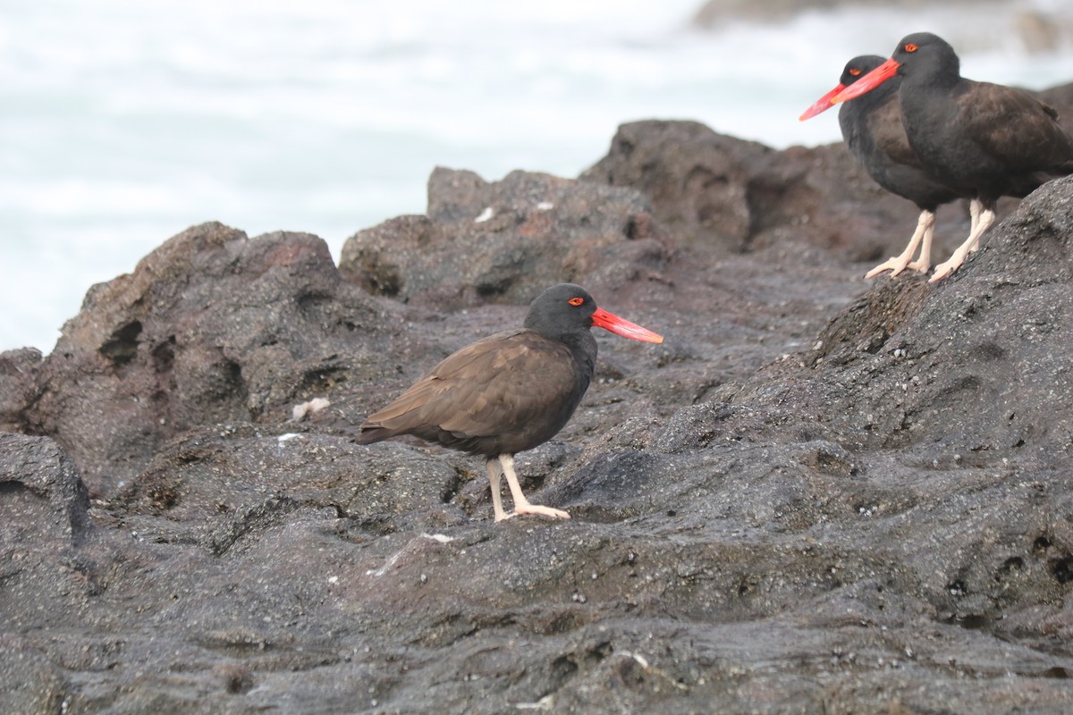
[[[587,332],[592,326],[615,334],[650,343],[663,339],[650,330],[598,308],[588,291],[573,283],[553,285],[529,304],[525,327],[545,338],[570,343],[572,336]]]

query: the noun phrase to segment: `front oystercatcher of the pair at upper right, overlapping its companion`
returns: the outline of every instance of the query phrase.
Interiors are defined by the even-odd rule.
[[[936,266],[934,283],[979,248],[1000,197],[1027,196],[1073,173],[1073,139],[1057,113],[1027,92],[962,77],[954,48],[930,32],[902,38],[890,60],[832,102],[861,96],[895,74],[901,77],[898,106],[913,151],[935,179],[972,199],[969,238]]]

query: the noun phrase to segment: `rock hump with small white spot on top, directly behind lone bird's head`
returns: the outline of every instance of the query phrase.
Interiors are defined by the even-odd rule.
[[[658,275],[667,238],[636,191],[525,172],[487,183],[472,172],[437,168],[427,215],[355,234],[339,270],[376,295],[408,302],[525,304],[556,283],[584,282],[607,295]]]

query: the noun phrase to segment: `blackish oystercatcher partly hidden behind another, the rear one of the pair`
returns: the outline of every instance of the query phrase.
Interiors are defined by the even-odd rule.
[[[811,119],[833,107],[831,100],[843,89],[883,64],[878,55],[862,55],[846,63],[838,86],[817,100],[805,110],[800,120]],[[922,273],[931,267],[931,236],[936,225],[936,209],[958,198],[952,189],[939,183],[924,172],[916,152],[909,146],[906,129],[898,109],[900,77],[894,77],[873,91],[842,104],[838,110],[838,125],[850,152],[865,167],[876,183],[893,194],[916,204],[921,218],[916,230],[901,255],[888,258],[872,268],[865,278],[885,270],[897,275],[906,268]],[[921,256],[912,260],[920,247]]]

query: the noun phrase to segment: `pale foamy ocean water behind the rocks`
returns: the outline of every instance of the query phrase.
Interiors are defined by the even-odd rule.
[[[962,74],[1073,80],[1073,3],[691,26],[702,0],[0,0],[0,351],[47,353],[93,283],[218,220],[348,236],[425,209],[435,166],[573,177],[616,128],[694,119],[783,148],[847,59],[943,34]],[[1044,17],[1059,38],[1029,46]]]

